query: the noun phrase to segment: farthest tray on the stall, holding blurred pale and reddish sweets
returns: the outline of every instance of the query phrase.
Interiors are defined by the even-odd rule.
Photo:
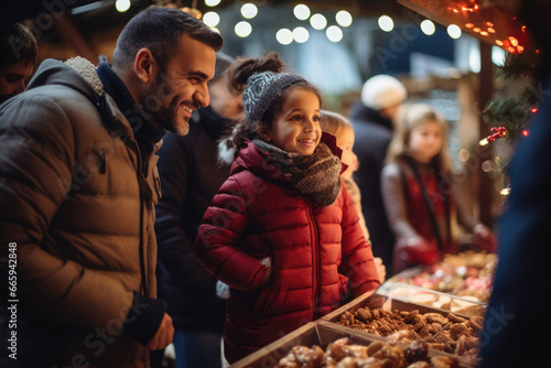
[[[495,253],[466,250],[457,255],[445,255],[434,266],[403,270],[385,283],[407,283],[488,303],[496,264]]]

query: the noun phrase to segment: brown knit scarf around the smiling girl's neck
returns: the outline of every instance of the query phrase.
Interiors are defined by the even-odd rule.
[[[341,193],[341,160],[321,142],[312,155],[289,153],[262,140],[252,141],[279,163],[283,175],[304,197],[318,206],[332,205]]]

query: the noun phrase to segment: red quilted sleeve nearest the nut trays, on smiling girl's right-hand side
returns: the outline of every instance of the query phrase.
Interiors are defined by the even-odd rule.
[[[341,224],[343,228],[343,261],[339,271],[349,279],[348,286],[352,296],[356,297],[377,289],[380,281],[371,247],[364,237],[358,213],[344,185],[341,195],[343,196],[343,223]]]

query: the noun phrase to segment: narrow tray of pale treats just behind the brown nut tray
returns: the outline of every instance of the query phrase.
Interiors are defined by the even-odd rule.
[[[425,305],[442,312],[452,312],[464,316],[484,316],[488,307],[488,304],[474,301],[468,296],[456,296],[401,282],[383,283],[377,290],[377,293],[402,302]]]

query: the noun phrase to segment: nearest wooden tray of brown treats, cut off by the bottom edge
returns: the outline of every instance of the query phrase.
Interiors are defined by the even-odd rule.
[[[473,367],[419,342],[387,342],[326,321],[311,322],[242,358],[231,368]]]

